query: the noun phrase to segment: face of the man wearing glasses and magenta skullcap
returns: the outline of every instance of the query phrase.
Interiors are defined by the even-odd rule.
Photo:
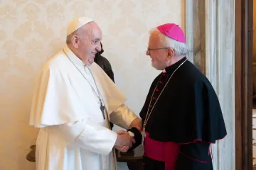
[[[146,55],[151,57],[151,65],[155,69],[164,70],[167,67],[169,48],[161,45],[159,41],[159,34],[157,32],[151,33],[149,36],[149,46]]]

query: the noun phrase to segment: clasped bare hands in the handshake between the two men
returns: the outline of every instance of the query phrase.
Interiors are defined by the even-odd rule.
[[[137,118],[132,121],[131,125],[129,125],[129,129],[136,128],[137,132],[140,134],[142,131],[142,119]],[[135,139],[129,132],[125,132],[124,130],[117,131],[117,140],[114,144],[114,148],[119,149],[120,152],[127,152],[127,150],[135,144]],[[139,142],[139,141],[138,141]]]

